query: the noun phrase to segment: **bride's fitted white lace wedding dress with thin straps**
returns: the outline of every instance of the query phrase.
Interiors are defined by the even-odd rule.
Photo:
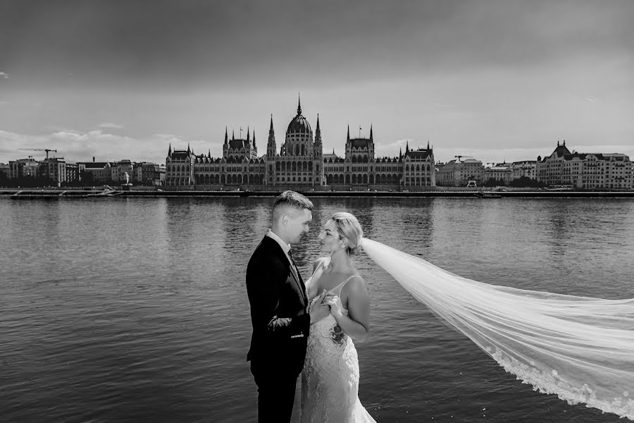
[[[306,282],[318,280],[328,264],[316,269]],[[351,277],[352,278],[352,277]],[[347,278],[328,293],[341,295]],[[310,300],[309,309],[319,298]],[[344,314],[348,310],[342,308]],[[375,423],[359,401],[359,359],[352,338],[342,333],[332,314],[311,326],[302,371],[302,423]]]

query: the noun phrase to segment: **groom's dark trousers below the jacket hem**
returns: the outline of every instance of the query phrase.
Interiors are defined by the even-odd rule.
[[[251,373],[258,386],[258,422],[290,422],[297,376],[266,369],[266,364],[259,367],[251,362]]]

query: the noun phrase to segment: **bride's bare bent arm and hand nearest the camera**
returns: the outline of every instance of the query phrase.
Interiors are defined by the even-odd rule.
[[[325,297],[323,303],[330,305],[330,314],[335,317],[342,331],[357,342],[363,342],[370,335],[370,295],[363,279],[352,278],[347,283],[348,315],[342,312],[341,300],[334,295]]]

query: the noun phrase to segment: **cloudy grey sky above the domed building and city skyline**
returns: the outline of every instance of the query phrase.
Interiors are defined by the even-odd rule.
[[[634,1],[0,0],[0,162],[164,163],[319,116],[375,154],[487,162],[557,142],[634,160]]]

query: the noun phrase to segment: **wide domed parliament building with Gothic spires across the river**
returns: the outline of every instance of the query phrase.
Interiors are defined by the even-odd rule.
[[[268,130],[266,154],[258,155],[256,135],[247,130],[247,138],[229,137],[225,128],[223,157],[196,155],[187,150],[172,150],[166,158],[165,185],[168,190],[429,190],[435,187],[433,149],[409,149],[397,157],[377,158],[373,130],[369,138],[351,138],[350,128],[345,157],[324,154],[319,128],[315,133],[302,115],[288,124],[285,139],[278,150],[273,130]]]

